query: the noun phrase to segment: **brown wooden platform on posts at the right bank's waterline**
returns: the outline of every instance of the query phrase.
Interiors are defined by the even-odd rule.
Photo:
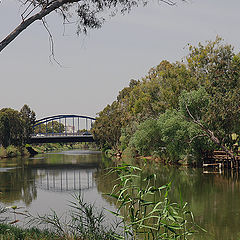
[[[215,167],[221,172],[224,168],[239,170],[240,155],[232,159],[224,151],[214,151],[211,156],[203,162],[203,167]]]

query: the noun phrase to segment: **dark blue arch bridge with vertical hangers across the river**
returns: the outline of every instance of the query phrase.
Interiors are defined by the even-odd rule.
[[[81,115],[55,115],[33,125],[30,143],[94,142],[91,128],[96,119]]]

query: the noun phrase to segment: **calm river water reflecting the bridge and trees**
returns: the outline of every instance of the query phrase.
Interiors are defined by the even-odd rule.
[[[94,203],[97,208],[114,210],[114,201],[103,194],[114,186],[113,176],[104,171],[110,164],[100,152],[88,150],[2,159],[0,205],[23,207],[33,215],[47,214],[51,209],[62,215],[73,195],[80,193],[84,201]],[[161,165],[147,168],[157,174],[159,186],[172,182],[171,200],[179,201],[181,197],[188,202],[197,224],[207,230],[195,235],[194,240],[240,239],[237,173],[204,173],[202,169]]]

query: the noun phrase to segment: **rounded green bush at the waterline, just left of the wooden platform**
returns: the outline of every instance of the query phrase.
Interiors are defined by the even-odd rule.
[[[158,127],[166,147],[164,157],[170,161],[185,159],[201,162],[205,153],[211,150],[212,144],[204,132],[193,122],[187,121],[180,111],[167,110],[161,114]]]

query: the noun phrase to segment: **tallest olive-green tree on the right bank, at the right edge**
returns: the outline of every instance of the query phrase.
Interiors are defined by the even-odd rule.
[[[222,144],[240,130],[240,57],[217,37],[206,45],[190,46],[187,57],[193,78],[209,94],[204,122]]]

